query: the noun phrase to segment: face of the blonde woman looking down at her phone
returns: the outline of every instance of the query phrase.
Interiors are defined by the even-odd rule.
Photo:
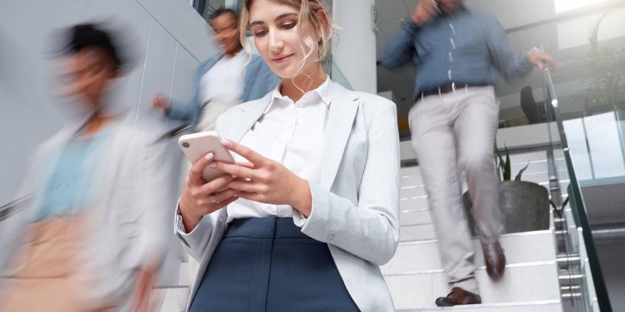
[[[297,7],[277,0],[254,0],[249,8],[249,24],[256,49],[269,68],[282,79],[311,71],[319,53],[317,41],[314,41],[314,50],[301,67],[305,52],[298,29],[304,27],[304,34],[313,34],[314,29],[309,22],[302,23],[298,19]]]

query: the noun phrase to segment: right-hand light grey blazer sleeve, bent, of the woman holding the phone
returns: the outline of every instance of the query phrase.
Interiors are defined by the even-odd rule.
[[[311,238],[375,265],[391,260],[399,241],[397,114],[392,102],[384,104],[368,130],[369,147],[357,205],[310,183],[312,212],[302,227],[302,233]]]

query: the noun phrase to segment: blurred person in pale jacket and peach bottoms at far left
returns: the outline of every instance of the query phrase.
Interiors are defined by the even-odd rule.
[[[61,92],[88,117],[37,148],[18,194],[34,200],[2,221],[0,311],[146,310],[166,241],[161,147],[112,109],[118,38],[94,24],[66,36]]]

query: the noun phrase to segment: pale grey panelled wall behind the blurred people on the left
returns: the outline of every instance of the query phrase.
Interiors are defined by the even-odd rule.
[[[3,0],[0,4],[0,205],[9,202],[27,170],[36,145],[64,124],[73,122],[68,104],[54,97],[58,46],[54,31],[78,22],[105,21],[123,36],[135,56],[135,66],[121,82],[116,102],[126,105],[136,125],[154,130],[166,127],[163,114],[151,109],[156,92],[189,100],[199,62],[216,53],[212,31],[186,0]],[[164,165],[171,169],[172,210],[178,192],[181,153],[172,141],[164,149]],[[173,211],[172,211],[173,213]],[[173,222],[173,221],[172,221]],[[172,225],[173,226],[173,225]],[[178,279],[182,256],[174,241],[166,280]]]

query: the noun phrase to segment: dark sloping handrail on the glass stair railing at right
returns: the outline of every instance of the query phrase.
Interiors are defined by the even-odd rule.
[[[576,227],[581,228],[582,238],[584,246],[586,248],[586,253],[588,257],[588,264],[590,266],[592,280],[594,284],[595,293],[597,296],[597,304],[599,305],[599,309],[602,312],[611,312],[612,307],[609,301],[609,295],[607,293],[607,287],[605,280],[603,278],[603,273],[601,270],[601,264],[599,263],[599,256],[597,254],[597,248],[594,244],[594,239],[592,237],[592,229],[590,222],[588,220],[588,215],[586,213],[586,206],[584,205],[584,199],[582,197],[581,190],[579,188],[579,183],[577,182],[577,178],[575,175],[575,170],[572,163],[571,152],[569,150],[568,141],[566,139],[566,133],[564,132],[564,124],[562,122],[562,115],[560,114],[559,102],[557,100],[556,89],[553,84],[553,80],[551,79],[551,74],[548,69],[544,69],[542,72],[543,77],[543,92],[545,105],[551,104],[553,107],[553,112],[555,114],[555,120],[557,125],[557,130],[559,134],[560,144],[562,145],[562,152],[564,154],[564,160],[566,162],[567,171],[569,172],[569,197],[571,197],[571,211],[574,213],[574,217],[576,217]],[[547,108],[547,107],[546,107]],[[546,109],[547,112],[547,120],[553,120],[549,115],[551,115],[551,110]],[[550,123],[547,123],[547,129],[549,129],[549,139],[551,139],[551,127]],[[556,178],[557,181],[557,170],[556,170]],[[571,192],[572,191],[572,192]],[[556,200],[561,201],[561,197],[556,198]],[[558,205],[561,205],[561,202],[558,202]],[[575,232],[569,231],[568,233],[569,239],[572,238],[571,235],[577,235]],[[591,298],[584,298],[586,303],[587,310],[591,310]]]

